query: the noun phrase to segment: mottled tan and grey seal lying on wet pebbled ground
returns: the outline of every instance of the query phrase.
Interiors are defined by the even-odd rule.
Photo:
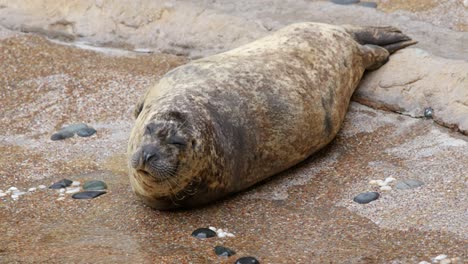
[[[415,43],[393,27],[299,23],[171,70],[136,107],[133,191],[192,208],[290,168],[336,136],[364,71]]]

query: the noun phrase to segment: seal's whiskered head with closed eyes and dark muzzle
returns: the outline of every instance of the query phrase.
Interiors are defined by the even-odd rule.
[[[187,114],[139,116],[129,141],[130,180],[149,206],[174,209],[198,192],[203,168],[200,143]]]

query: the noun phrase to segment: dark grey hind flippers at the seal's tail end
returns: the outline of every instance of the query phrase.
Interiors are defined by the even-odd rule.
[[[350,25],[343,27],[359,44],[377,45],[386,49],[390,54],[418,43],[395,27],[356,27]]]

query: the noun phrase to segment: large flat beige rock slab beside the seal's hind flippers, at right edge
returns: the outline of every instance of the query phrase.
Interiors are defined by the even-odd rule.
[[[468,135],[466,69],[468,61],[406,48],[378,71],[366,74],[353,100],[412,117],[432,116],[436,123]]]

